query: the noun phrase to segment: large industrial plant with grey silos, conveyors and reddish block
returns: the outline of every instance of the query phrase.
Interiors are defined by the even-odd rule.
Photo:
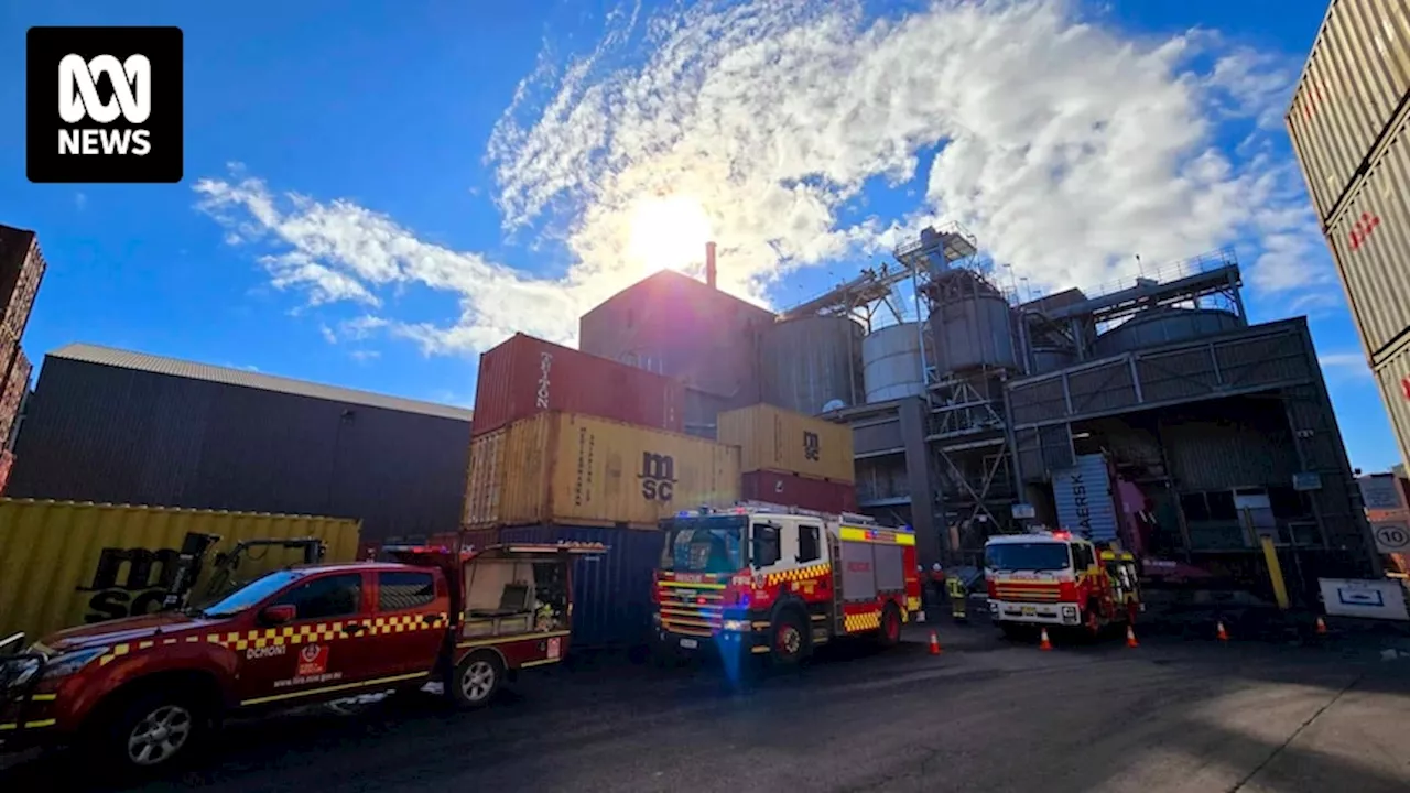
[[[709,399],[850,425],[860,508],[914,526],[926,563],[1048,525],[1238,581],[1265,577],[1268,536],[1304,591],[1378,569],[1307,323],[1249,325],[1232,251],[1019,302],[963,229],[925,229],[777,315],[709,281],[623,291],[582,349],[687,378],[702,435]]]

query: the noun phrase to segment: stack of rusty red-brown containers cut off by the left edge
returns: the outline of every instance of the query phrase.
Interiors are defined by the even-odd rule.
[[[0,492],[14,463],[10,446],[30,391],[30,360],[20,343],[45,267],[34,231],[0,226]]]

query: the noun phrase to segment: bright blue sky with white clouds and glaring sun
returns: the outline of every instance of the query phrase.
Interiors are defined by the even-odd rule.
[[[960,220],[1024,288],[1234,246],[1256,320],[1311,316],[1352,463],[1397,453],[1282,110],[1325,4],[20,0],[28,25],[176,24],[180,185],[30,185],[32,358],[92,341],[468,404],[475,353],[721,241],[790,305]],[[670,196],[670,198],[661,198]],[[1005,274],[1008,270],[1004,271]]]

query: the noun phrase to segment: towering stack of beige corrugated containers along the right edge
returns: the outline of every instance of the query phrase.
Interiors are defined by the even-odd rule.
[[[1410,3],[1334,0],[1287,113],[1402,457],[1410,463]]]

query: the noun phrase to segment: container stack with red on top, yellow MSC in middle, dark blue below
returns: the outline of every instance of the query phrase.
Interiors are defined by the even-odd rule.
[[[739,449],[682,435],[678,380],[516,334],[481,356],[462,529],[471,545],[601,542],[574,569],[575,646],[650,629],[658,521],[739,500]]]

